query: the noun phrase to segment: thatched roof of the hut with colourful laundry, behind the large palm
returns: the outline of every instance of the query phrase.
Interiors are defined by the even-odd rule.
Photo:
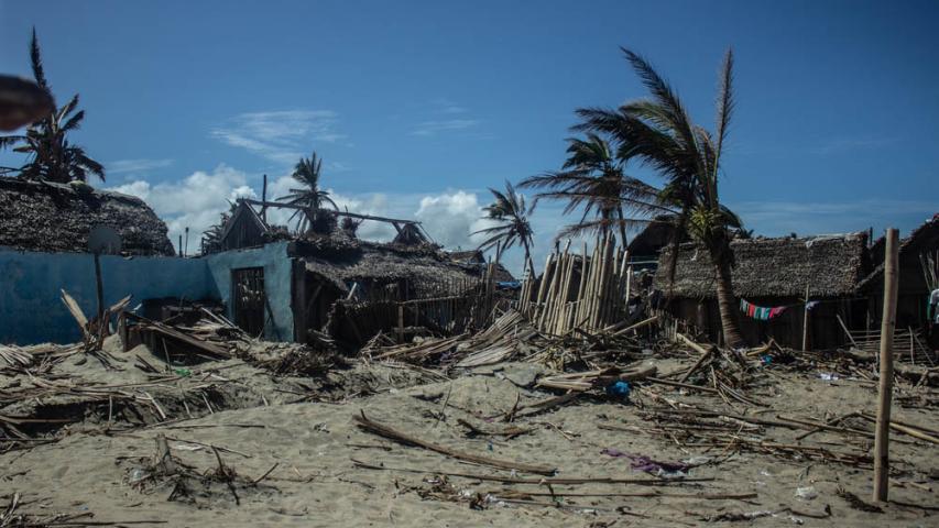
[[[842,297],[858,292],[870,272],[866,233],[811,238],[734,240],[733,292],[739,297]],[[655,285],[668,290],[670,249],[662,252]],[[707,250],[681,244],[674,295],[706,298],[714,294],[714,268]]]

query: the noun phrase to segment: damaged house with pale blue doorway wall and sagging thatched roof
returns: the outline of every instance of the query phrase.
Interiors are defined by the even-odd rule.
[[[231,320],[252,334],[305,341],[326,329],[357,346],[404,327],[446,331],[469,309],[463,305],[472,304],[488,273],[440,251],[412,220],[331,212],[392,224],[397,235],[390,243],[342,230],[296,237],[265,221],[272,207],[288,206],[240,200],[218,251],[205,256]]]

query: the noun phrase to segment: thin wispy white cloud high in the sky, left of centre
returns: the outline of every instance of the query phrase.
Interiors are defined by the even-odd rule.
[[[281,164],[308,155],[312,141],[335,143],[348,138],[338,132],[331,110],[283,110],[236,116],[211,131],[211,136]]]

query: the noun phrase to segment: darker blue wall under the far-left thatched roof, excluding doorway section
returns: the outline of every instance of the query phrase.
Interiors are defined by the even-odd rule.
[[[105,304],[132,295],[143,299],[218,298],[201,258],[101,256]],[[87,316],[97,310],[95,261],[85,253],[29,253],[0,248],[0,343],[70,343],[80,340],[62,302],[65,289]]]

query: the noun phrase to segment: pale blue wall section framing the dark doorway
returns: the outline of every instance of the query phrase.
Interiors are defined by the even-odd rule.
[[[228,318],[233,319],[231,309],[231,271],[241,267],[264,268],[264,292],[270,302],[274,324],[270,315],[264,315],[264,338],[271,341],[294,340],[294,314],[291,307],[291,258],[287,242],[275,242],[260,248],[215,253],[205,258],[208,273],[219,298],[225,302]]]

